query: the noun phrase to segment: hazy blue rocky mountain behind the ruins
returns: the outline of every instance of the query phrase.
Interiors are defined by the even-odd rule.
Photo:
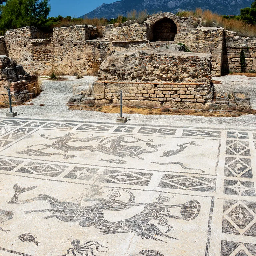
[[[121,0],[112,4],[102,4],[80,18],[116,18],[126,16],[131,10],[147,9],[149,14],[158,12],[177,13],[179,10],[195,10],[197,7],[209,9],[222,15],[240,14],[240,9],[250,7],[253,0]]]

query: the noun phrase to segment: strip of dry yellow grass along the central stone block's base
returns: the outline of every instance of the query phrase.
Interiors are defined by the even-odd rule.
[[[89,110],[89,111],[100,111],[103,113],[112,113],[112,114],[119,114],[120,107],[116,106],[91,106],[85,107],[81,105],[70,105],[70,109],[72,110]],[[205,116],[205,117],[239,117],[241,115],[248,115],[248,114],[256,114],[256,111],[252,112],[226,112],[226,111],[213,111],[209,112],[208,110],[182,110],[182,109],[169,109],[169,108],[131,108],[123,106],[123,113],[135,113],[135,114],[143,114],[143,115],[194,115],[194,116]]]

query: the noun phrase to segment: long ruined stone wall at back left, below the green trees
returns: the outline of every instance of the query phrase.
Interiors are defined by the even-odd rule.
[[[110,28],[107,30],[109,33]],[[5,44],[9,56],[28,72],[49,75],[56,67],[60,75],[73,75],[77,70],[83,75],[97,75],[109,54],[109,41],[91,40],[97,33],[93,26],[72,26],[54,28],[51,38],[38,39],[42,36],[39,30],[25,27],[7,31]]]

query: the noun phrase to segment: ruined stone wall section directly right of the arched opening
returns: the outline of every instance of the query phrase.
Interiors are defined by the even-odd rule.
[[[223,52],[223,28],[196,28],[175,36],[175,43],[184,43],[192,52],[212,54],[212,75],[220,76]]]

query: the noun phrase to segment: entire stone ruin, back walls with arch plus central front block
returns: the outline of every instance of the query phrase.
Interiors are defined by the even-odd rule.
[[[184,52],[188,50],[192,53]],[[255,38],[240,37],[223,28],[203,27],[201,18],[177,17],[168,12],[152,15],[142,24],[128,21],[121,26],[54,28],[48,38],[30,26],[9,30],[0,37],[0,54],[19,63],[27,72],[48,75],[51,68],[56,67],[60,75],[73,75],[76,70],[81,70],[83,75],[99,75],[93,91],[106,95],[95,101],[115,102],[118,99],[109,93],[122,88],[136,94],[125,96],[127,101],[143,101],[144,104],[150,101],[180,108],[234,108],[232,104],[219,104],[215,99],[211,77],[240,71],[242,50],[246,71],[256,72]],[[159,57],[161,60],[158,60],[159,54],[163,57]],[[145,63],[145,56],[149,61],[152,58],[152,63]],[[116,63],[116,59],[123,66]],[[126,63],[127,59],[131,64]],[[159,74],[152,69],[157,69]],[[230,99],[229,103],[235,102]],[[76,102],[76,98],[72,101]],[[246,105],[238,108],[244,109]]]

